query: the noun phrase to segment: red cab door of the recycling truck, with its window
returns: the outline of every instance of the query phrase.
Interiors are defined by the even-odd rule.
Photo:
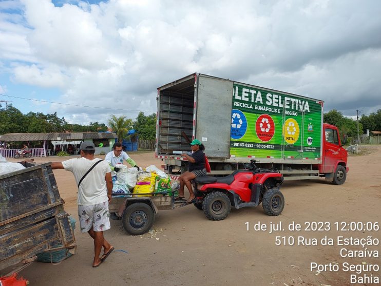
[[[336,164],[337,155],[339,154],[339,137],[337,129],[325,127],[323,132],[323,172],[332,173]]]

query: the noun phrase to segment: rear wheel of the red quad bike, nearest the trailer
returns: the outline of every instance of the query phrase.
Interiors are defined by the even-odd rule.
[[[202,210],[210,220],[223,220],[230,214],[231,209],[229,198],[219,191],[207,194],[202,203]]]

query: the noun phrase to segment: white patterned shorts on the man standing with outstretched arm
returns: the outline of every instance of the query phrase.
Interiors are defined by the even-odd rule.
[[[110,213],[108,201],[93,205],[79,205],[78,217],[81,232],[86,233],[93,228],[94,232],[103,232],[110,229]]]

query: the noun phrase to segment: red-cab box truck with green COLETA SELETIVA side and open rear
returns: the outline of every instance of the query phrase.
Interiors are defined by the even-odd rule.
[[[262,105],[256,102],[259,91]],[[266,100],[272,105],[266,106]],[[189,151],[190,140],[197,138],[206,147],[214,176],[231,174],[255,159],[259,167],[276,167],[284,180],[326,177],[341,184],[346,179],[347,152],[341,148],[338,129],[322,123],[321,100],[194,73],[159,87],[157,102],[156,157],[164,161],[162,167],[170,175],[186,170],[186,158],[181,154]],[[307,103],[310,113],[306,111]],[[268,131],[265,124],[270,117],[277,117],[272,140],[263,137],[262,142],[258,132],[251,141],[234,140],[236,109],[237,116],[241,110],[246,117],[252,116],[246,122],[252,134],[259,127],[263,133]],[[262,125],[258,123],[260,116],[264,116]],[[298,123],[298,138],[283,136],[287,122],[290,126]],[[291,134],[293,130],[287,131]],[[327,132],[332,132],[335,141],[325,141],[323,134]]]

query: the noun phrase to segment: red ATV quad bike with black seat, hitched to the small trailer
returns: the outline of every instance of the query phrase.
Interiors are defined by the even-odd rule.
[[[211,220],[222,220],[235,208],[258,206],[277,216],[283,211],[284,197],[279,190],[283,176],[276,168],[257,168],[255,160],[225,177],[198,177],[193,180],[194,205]]]

